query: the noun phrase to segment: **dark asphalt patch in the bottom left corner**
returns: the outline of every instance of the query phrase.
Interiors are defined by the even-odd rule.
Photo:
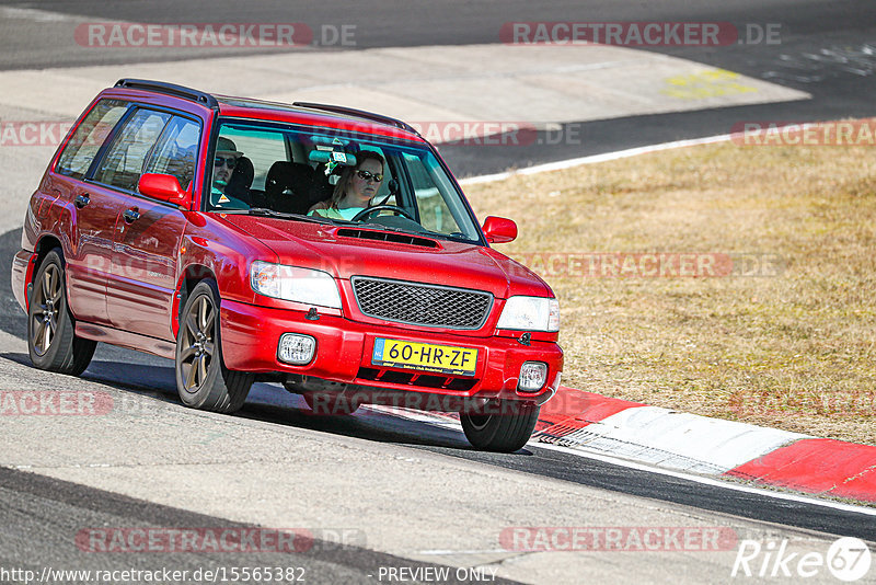
[[[221,571],[220,567],[261,566],[283,567],[283,574],[292,571],[295,576],[303,576],[306,580],[309,577],[311,582],[373,584],[380,567],[401,564],[413,570],[427,566],[437,570],[440,566],[357,547],[354,543],[356,536],[353,534],[346,535],[349,540],[347,542],[324,540],[319,535],[304,534],[304,540],[290,547],[289,551],[180,551],[168,552],[160,558],[150,558],[141,552],[120,552],[106,562],[95,559],[94,552],[80,547],[71,548],[68,535],[78,534],[82,527],[100,528],[119,521],[145,529],[184,526],[188,529],[205,528],[217,532],[228,530],[231,535],[252,530],[252,527],[7,468],[0,468],[0,501],[3,502],[0,513],[3,520],[0,524],[0,541],[5,544],[0,552],[0,563],[4,567],[34,571],[37,575],[45,567],[61,571],[61,567],[85,566],[87,571],[142,572],[161,572],[164,567],[172,567],[172,571],[185,571],[194,576],[198,570],[216,572]],[[37,535],[39,546],[34,547]],[[448,573],[450,578],[443,583],[465,582],[454,578],[454,570],[449,570]],[[57,575],[56,573],[55,578],[47,582],[85,582],[84,578],[60,578]],[[314,578],[315,575],[319,577]],[[0,582],[15,583],[21,580]],[[496,577],[493,582],[515,583],[502,577]]]

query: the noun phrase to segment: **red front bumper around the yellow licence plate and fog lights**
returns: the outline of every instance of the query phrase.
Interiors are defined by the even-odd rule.
[[[221,335],[226,366],[232,370],[287,372],[376,389],[537,403],[545,402],[556,392],[563,369],[563,351],[552,342],[532,341],[526,346],[508,337],[366,325],[330,314],[309,320],[306,314],[223,300]],[[316,340],[316,354],[310,364],[291,366],[277,358],[277,344],[284,333],[300,333]],[[377,337],[476,348],[474,376],[452,377],[373,365],[371,355]],[[548,365],[546,382],[535,392],[521,392],[517,389],[520,367],[530,360]]]

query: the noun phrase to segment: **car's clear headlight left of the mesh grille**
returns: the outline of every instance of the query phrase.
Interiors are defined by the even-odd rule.
[[[341,294],[331,274],[311,268],[253,262],[250,286],[260,295],[304,305],[341,308]]]

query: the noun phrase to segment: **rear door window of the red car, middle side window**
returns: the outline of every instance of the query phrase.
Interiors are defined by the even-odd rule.
[[[146,158],[170,118],[171,115],[164,112],[136,112],[116,135],[94,180],[114,187],[136,190]]]

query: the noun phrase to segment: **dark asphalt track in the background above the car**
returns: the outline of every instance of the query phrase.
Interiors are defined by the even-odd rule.
[[[866,0],[740,0],[595,2],[548,0],[485,0],[479,2],[367,0],[362,2],[239,2],[170,0],[97,3],[92,1],[3,1],[0,7],[38,9],[69,14],[78,22],[106,20],[145,23],[300,22],[322,26],[354,24],[355,46],[373,47],[468,45],[499,43],[506,22],[729,22],[780,25],[780,43],[747,44],[757,34],[742,34],[740,44],[717,47],[649,47],[712,67],[744,73],[806,91],[811,100],[791,103],[705,110],[682,114],[633,116],[597,122],[570,122],[562,131],[541,131],[526,146],[443,146],[442,156],[458,176],[612,152],[643,145],[728,134],[744,121],[825,121],[876,115],[872,95],[876,83],[876,3]],[[14,13],[13,13],[14,14]],[[69,23],[22,20],[3,26],[0,69],[105,65],[253,54],[253,49],[161,48],[106,50],[79,46]],[[316,41],[319,42],[319,34]],[[319,48],[319,47],[318,47]],[[337,47],[327,47],[334,50]],[[258,49],[272,51],[277,49]],[[312,47],[293,50],[312,50]],[[221,74],[221,72],[217,72]],[[295,74],[290,71],[289,74]],[[391,76],[391,72],[387,72]],[[539,122],[539,121],[533,121]],[[550,121],[543,121],[550,122]],[[567,137],[557,140],[556,137]],[[570,138],[568,138],[570,137]]]

